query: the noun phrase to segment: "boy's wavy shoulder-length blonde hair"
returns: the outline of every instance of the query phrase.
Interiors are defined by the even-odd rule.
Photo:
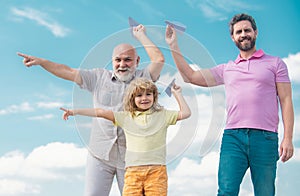
[[[154,111],[162,110],[162,106],[158,103],[158,89],[156,85],[146,78],[136,78],[127,87],[123,98],[124,110],[131,113],[134,116],[134,112],[137,111],[138,107],[135,104],[135,97],[139,93],[143,93],[144,91],[153,93],[153,105],[152,108]]]

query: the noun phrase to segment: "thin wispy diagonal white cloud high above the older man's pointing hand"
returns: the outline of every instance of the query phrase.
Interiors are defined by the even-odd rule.
[[[26,7],[24,9],[13,7],[11,8],[11,12],[17,17],[32,20],[38,25],[46,27],[56,37],[65,37],[70,32],[70,29],[54,21],[45,12],[41,12],[29,7]]]

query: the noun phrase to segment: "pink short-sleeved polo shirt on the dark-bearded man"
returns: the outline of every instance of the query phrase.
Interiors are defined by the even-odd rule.
[[[277,82],[290,82],[286,64],[279,58],[256,51],[248,60],[210,69],[218,85],[225,85],[226,129],[255,128],[278,131]]]

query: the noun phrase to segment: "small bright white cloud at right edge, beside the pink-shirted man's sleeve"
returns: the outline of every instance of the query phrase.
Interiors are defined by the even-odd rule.
[[[291,80],[300,83],[300,52],[289,54],[283,61],[287,64]]]

